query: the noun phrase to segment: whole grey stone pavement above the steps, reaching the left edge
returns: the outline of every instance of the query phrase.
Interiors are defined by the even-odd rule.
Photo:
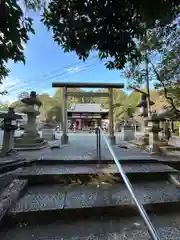
[[[53,160],[91,160],[96,158],[96,135],[89,133],[70,133],[69,144],[61,145],[60,140],[50,142],[50,145],[59,145],[60,148],[51,149],[50,147],[37,151],[22,151],[15,155],[0,158],[0,165],[11,163],[19,160],[35,160],[35,159],[53,159]],[[60,138],[60,136],[58,136]],[[107,148],[104,140],[101,140],[102,159],[111,160],[112,156]],[[117,145],[113,146],[113,150],[121,159],[161,159],[164,157],[159,155],[150,155],[147,151],[136,147],[134,144],[122,141],[120,134],[117,134]]]

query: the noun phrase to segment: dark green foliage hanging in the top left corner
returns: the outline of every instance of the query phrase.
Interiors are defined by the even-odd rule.
[[[33,33],[32,19],[25,17],[18,1],[0,1],[0,83],[8,76],[9,60],[25,63],[23,44]]]

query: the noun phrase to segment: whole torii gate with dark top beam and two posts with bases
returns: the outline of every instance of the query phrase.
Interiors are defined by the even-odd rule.
[[[54,82],[52,83],[52,87],[54,88],[63,88],[63,108],[62,108],[62,116],[63,116],[63,135],[61,138],[62,144],[68,143],[68,135],[67,135],[67,97],[68,95],[72,96],[72,94],[77,95],[77,93],[68,93],[67,88],[108,88],[108,93],[93,93],[93,97],[100,96],[109,98],[109,141],[113,145],[116,143],[116,139],[114,136],[114,119],[113,119],[113,88],[124,88],[124,84],[122,83],[88,83],[88,82]],[[79,94],[79,93],[78,93]],[[90,93],[91,95],[92,93]],[[87,96],[87,93],[86,93]]]

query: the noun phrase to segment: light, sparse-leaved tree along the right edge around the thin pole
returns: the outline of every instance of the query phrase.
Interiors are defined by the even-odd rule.
[[[177,107],[180,106],[180,31],[177,28],[177,19],[165,27],[156,27],[148,31],[146,41],[142,41],[139,47],[141,52],[145,49],[148,51],[149,80],[154,80],[155,87],[161,90],[159,93],[163,93],[168,103],[179,114]],[[142,84],[145,81],[143,62],[135,65],[130,63],[124,73],[130,84]]]

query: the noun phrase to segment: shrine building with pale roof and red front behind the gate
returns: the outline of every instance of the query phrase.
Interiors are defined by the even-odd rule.
[[[96,123],[102,124],[108,119],[108,109],[104,109],[101,104],[74,103],[67,110],[68,125],[75,124],[76,129],[86,130],[94,127]]]

